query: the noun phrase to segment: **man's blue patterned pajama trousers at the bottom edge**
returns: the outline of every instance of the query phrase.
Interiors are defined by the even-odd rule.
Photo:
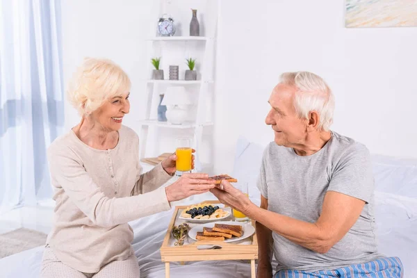
[[[368,263],[348,265],[344,268],[335,270],[320,270],[316,272],[305,272],[299,270],[279,270],[275,273],[275,278],[361,278],[361,277],[404,277],[402,263],[396,256],[390,258],[377,259]]]

